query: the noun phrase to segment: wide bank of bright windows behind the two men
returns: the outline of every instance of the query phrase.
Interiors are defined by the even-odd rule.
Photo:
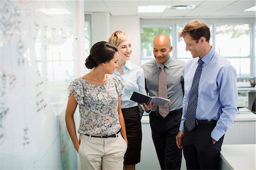
[[[189,19],[190,20],[190,19]],[[178,34],[189,22],[185,19],[170,19],[160,22],[154,26],[156,20],[142,20],[141,25],[141,64],[154,59],[152,56],[152,40],[157,34],[167,34],[173,39],[172,50],[173,57],[187,61],[191,59],[191,53],[185,51],[185,43],[183,38],[179,38]],[[237,23],[230,23],[229,19],[205,19],[210,27],[210,44],[216,49],[220,55],[226,57],[237,71],[238,78],[255,77],[255,60],[256,60],[256,26],[253,19],[236,19]],[[167,23],[170,23],[168,25]],[[144,24],[144,26],[143,26]],[[254,30],[251,30],[254,29]],[[255,33],[254,33],[255,32]]]

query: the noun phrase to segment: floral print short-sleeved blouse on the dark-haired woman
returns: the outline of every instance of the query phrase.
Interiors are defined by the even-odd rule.
[[[84,78],[76,78],[69,86],[69,95],[74,95],[79,104],[79,134],[108,136],[121,128],[118,117],[118,97],[123,84],[119,77],[107,75],[103,85],[92,85]]]

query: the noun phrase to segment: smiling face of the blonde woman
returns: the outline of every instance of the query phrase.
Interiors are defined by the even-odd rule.
[[[125,63],[127,60],[130,60],[131,51],[133,49],[131,48],[131,42],[129,39],[123,40],[117,48],[119,52],[119,61],[121,61],[121,63]]]

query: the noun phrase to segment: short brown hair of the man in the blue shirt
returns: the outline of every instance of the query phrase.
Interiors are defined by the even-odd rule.
[[[185,27],[180,31],[179,36],[184,37],[186,34],[189,34],[193,40],[197,41],[197,43],[201,37],[204,37],[208,43],[210,40],[210,28],[200,19],[194,19],[185,24]]]

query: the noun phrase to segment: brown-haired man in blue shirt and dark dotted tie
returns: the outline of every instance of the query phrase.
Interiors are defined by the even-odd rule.
[[[187,61],[184,69],[183,114],[176,144],[183,148],[187,169],[219,169],[224,134],[238,113],[236,70],[209,44],[210,30],[202,20],[187,23],[179,36],[193,59]],[[195,74],[199,60],[203,61],[200,76]],[[199,82],[195,91],[196,78]],[[193,106],[189,107],[189,103]],[[191,115],[193,108],[195,119]]]

